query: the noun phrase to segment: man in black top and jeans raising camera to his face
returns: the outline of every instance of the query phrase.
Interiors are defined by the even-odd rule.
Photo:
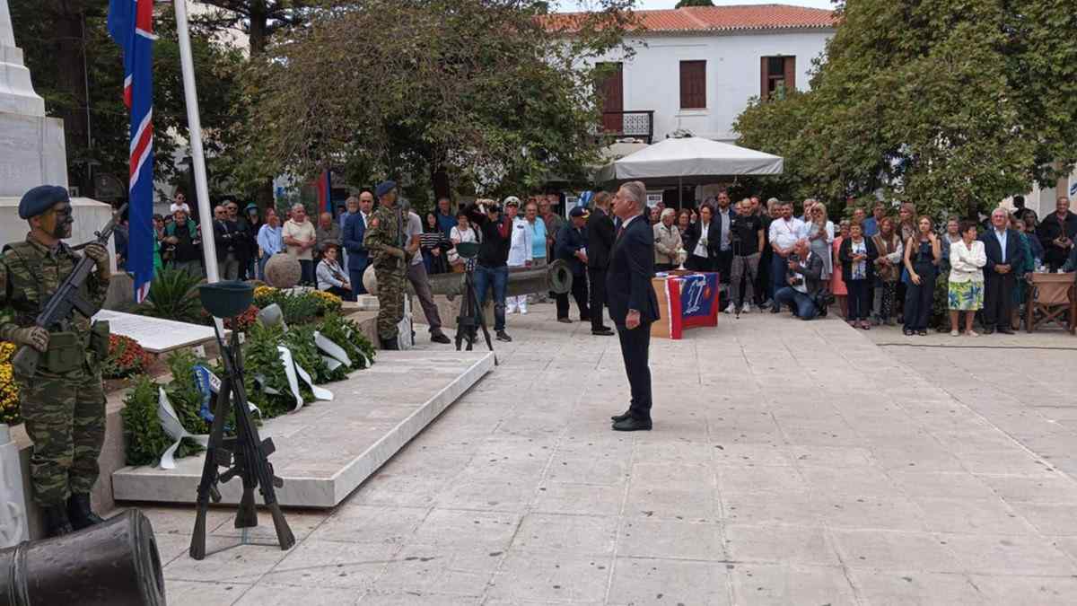
[[[513,340],[505,332],[505,291],[508,288],[508,250],[513,240],[513,224],[501,216],[501,207],[495,201],[479,199],[468,214],[481,234],[475,263],[475,292],[478,295],[478,313],[482,313],[486,292],[493,288],[493,330],[498,341]]]

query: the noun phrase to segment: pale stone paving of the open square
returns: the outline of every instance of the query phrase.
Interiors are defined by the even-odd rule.
[[[722,316],[654,342],[655,430],[621,435],[615,338],[553,316],[512,316],[501,367],[335,511],[291,512],[290,552],[194,562],[190,509],[150,510],[169,603],[1077,603],[1067,438],[1019,431],[1045,414],[1023,373],[1065,394],[1071,353],[1006,354],[1013,384],[982,386],[979,349]],[[945,388],[924,378],[962,356]]]

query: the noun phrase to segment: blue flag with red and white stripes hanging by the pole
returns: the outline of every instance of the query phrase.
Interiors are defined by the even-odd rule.
[[[153,0],[109,0],[109,35],[124,51],[130,110],[127,271],[141,303],[153,279]]]

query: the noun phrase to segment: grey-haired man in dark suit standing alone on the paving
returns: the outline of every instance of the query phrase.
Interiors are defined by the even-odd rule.
[[[606,297],[632,389],[628,411],[612,417],[616,431],[646,431],[652,425],[647,356],[651,323],[658,319],[658,299],[651,286],[655,275],[655,233],[642,215],[646,198],[644,184],[630,181],[620,187],[614,201],[614,214],[621,223],[610,252]]]

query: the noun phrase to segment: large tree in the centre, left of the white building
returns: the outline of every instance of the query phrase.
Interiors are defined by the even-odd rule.
[[[601,4],[565,24],[571,38],[546,29],[545,2],[365,0],[319,13],[260,65],[266,160],[489,193],[582,178],[599,115],[584,59],[619,45],[632,18],[631,0]]]

